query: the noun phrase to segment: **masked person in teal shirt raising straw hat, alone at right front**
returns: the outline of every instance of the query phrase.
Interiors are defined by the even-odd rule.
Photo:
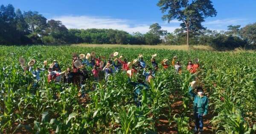
[[[196,89],[197,94],[193,91]],[[193,109],[195,117],[195,134],[201,134],[204,127],[204,117],[208,114],[208,98],[204,95],[204,91],[201,86],[198,86],[197,81],[192,81],[189,86],[189,95],[193,98]]]

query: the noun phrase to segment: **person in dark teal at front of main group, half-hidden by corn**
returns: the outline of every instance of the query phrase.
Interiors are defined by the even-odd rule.
[[[142,103],[141,103],[142,93],[141,92],[143,90],[147,91],[149,87],[146,83],[143,82],[143,77],[141,75],[137,75],[137,77],[136,77],[137,82],[132,82],[130,77],[128,77],[128,84],[130,84],[131,86],[134,87],[134,102],[137,105],[137,107],[140,107],[140,106],[142,106]]]

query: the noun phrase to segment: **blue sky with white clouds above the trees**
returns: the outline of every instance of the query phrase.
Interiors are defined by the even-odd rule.
[[[61,20],[67,28],[119,29],[130,33],[148,31],[159,23],[169,32],[179,27],[173,20],[166,23],[157,7],[158,0],[1,0],[22,11],[38,11],[48,20]],[[256,0],[212,0],[218,14],[203,25],[212,30],[226,30],[228,25],[245,26],[256,22]]]

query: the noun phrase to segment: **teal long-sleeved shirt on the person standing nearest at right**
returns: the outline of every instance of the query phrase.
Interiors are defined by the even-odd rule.
[[[208,98],[206,96],[200,97],[199,95],[195,94],[191,86],[189,87],[189,95],[194,99],[194,112],[207,115]]]

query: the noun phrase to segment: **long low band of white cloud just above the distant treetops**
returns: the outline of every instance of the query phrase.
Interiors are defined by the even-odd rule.
[[[53,17],[54,20],[60,20],[68,29],[118,29],[129,33],[146,33],[150,24],[132,25],[129,20],[115,19],[111,17],[91,17],[91,16],[59,16]],[[177,23],[173,20],[173,23]],[[164,30],[174,31],[178,27],[163,26]]]

